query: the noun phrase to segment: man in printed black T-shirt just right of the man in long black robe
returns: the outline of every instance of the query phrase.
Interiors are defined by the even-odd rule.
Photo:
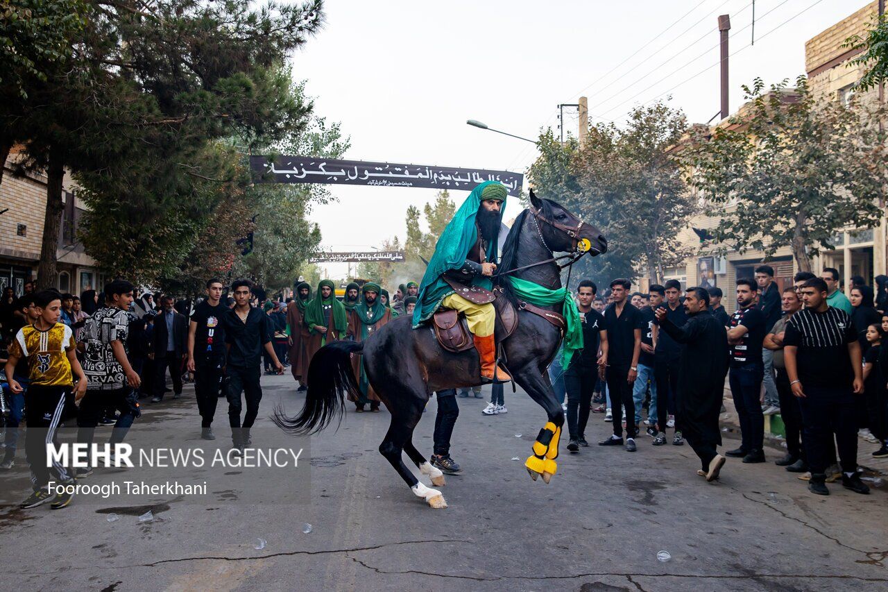
[[[758,393],[765,373],[762,342],[765,340],[765,316],[754,306],[757,285],[754,280],[737,280],[737,310],[731,317],[727,342],[731,348],[731,384],[733,405],[740,420],[741,446],[725,452],[743,462],[765,462],[765,417]]]

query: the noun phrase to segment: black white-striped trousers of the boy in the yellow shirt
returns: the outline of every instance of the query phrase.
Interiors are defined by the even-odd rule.
[[[71,479],[68,469],[58,461],[46,466],[46,444],[59,448],[59,423],[74,408],[71,387],[47,387],[32,384],[25,393],[25,459],[31,469],[31,487],[38,491],[53,476],[58,482]]]

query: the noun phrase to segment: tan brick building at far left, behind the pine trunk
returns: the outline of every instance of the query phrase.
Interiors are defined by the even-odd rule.
[[[0,182],[0,289],[12,285],[17,294],[26,281],[36,277],[37,262],[44,236],[46,212],[46,177],[12,173],[15,155],[4,163]],[[59,228],[58,276],[55,285],[61,292],[79,294],[84,290],[101,289],[104,277],[95,261],[83,252],[76,240],[77,222],[83,207],[75,198],[74,182],[65,176],[63,182],[65,210]]]

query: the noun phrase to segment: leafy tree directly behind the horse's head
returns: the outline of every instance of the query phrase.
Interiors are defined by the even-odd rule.
[[[538,196],[564,205],[607,237],[607,253],[583,258],[576,277],[607,284],[638,277],[646,267],[654,281],[687,252],[675,237],[694,212],[680,163],[667,148],[686,131],[681,111],[662,102],[634,108],[624,128],[592,125],[583,149],[573,138],[562,144],[551,130],[537,146],[540,157],[529,176]]]

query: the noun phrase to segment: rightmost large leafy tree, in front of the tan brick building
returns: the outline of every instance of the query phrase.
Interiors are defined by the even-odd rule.
[[[723,251],[771,256],[789,246],[798,268],[811,271],[811,257],[834,248],[836,231],[881,220],[884,108],[818,98],[805,76],[795,89],[756,79],[744,90],[748,109],[692,141],[694,185],[721,217],[713,234]]]

